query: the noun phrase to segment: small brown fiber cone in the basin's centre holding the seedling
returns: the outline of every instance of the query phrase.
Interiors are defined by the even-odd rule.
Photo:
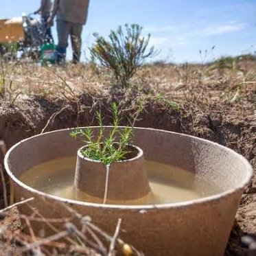
[[[137,146],[127,146],[126,160],[107,167],[100,161],[93,161],[78,150],[75,167],[76,189],[107,200],[132,200],[142,198],[150,192],[143,151]],[[105,191],[106,189],[106,191]]]

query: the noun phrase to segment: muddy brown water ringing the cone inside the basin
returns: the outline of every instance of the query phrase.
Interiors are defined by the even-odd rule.
[[[26,185],[39,191],[62,198],[81,200],[84,202],[104,202],[102,198],[95,198],[75,189],[75,157],[54,159],[32,167],[20,176]],[[146,161],[146,169],[152,192],[144,198],[136,200],[108,200],[108,204],[117,205],[154,205],[170,202],[184,202],[220,193],[217,185],[205,181],[178,167]],[[111,168],[109,175],[111,175]]]

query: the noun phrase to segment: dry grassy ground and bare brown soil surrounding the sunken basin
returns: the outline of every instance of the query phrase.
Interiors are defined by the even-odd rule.
[[[2,63],[0,139],[10,148],[17,141],[42,131],[93,125],[99,108],[108,124],[110,102],[115,100],[124,123],[143,108],[137,126],[173,130],[216,141],[243,154],[255,172],[255,70],[253,56],[206,65],[158,63],[141,67],[130,81],[130,87],[122,90],[115,86],[108,70],[95,70],[90,65],[39,67],[22,61]],[[252,183],[244,191],[226,255],[247,255],[240,238],[244,234],[256,237],[255,177],[254,174]],[[33,237],[33,231],[30,237],[24,237],[19,224],[13,224],[13,220],[19,219],[17,214],[12,209],[1,220],[3,250],[12,248],[13,253],[20,253],[19,250],[30,248],[28,244],[41,242],[33,249],[50,255],[63,253],[64,249],[66,253],[74,253],[73,247],[56,241],[42,247],[45,241]],[[14,237],[18,241],[16,247],[6,246],[15,244]],[[89,247],[83,250],[91,250]],[[85,251],[77,253],[86,255]]]

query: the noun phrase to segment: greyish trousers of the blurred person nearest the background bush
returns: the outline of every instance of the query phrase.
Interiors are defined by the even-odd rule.
[[[82,45],[82,24],[71,23],[67,21],[57,21],[58,48],[66,49],[68,46],[69,35],[71,36],[71,45],[73,50],[73,63],[77,63],[81,56]]]

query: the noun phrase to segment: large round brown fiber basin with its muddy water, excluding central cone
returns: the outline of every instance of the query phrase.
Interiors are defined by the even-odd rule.
[[[98,127],[92,129],[99,132]],[[110,129],[106,127],[106,134]],[[8,151],[5,169],[16,201],[34,197],[30,205],[45,218],[68,217],[72,207],[110,234],[121,218],[121,239],[146,255],[223,255],[252,174],[243,156],[205,139],[135,128],[133,144],[143,150],[150,194],[135,200],[110,198],[103,204],[100,196],[73,185],[83,143],[71,138],[70,131],[37,135]],[[19,210],[32,213],[28,205]],[[36,233],[50,232],[43,223],[32,226]]]

